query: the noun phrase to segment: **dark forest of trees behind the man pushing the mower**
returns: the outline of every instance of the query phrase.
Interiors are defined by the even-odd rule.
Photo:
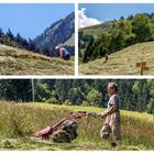
[[[35,101],[67,106],[107,107],[108,82],[112,79],[35,79]],[[154,79],[113,79],[120,108],[154,113]],[[0,79],[0,99],[32,101],[31,79]]]

